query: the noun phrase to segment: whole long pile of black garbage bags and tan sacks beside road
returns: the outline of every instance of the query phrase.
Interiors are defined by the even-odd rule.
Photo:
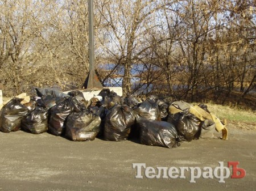
[[[138,138],[143,145],[174,148],[180,142],[212,138],[228,130],[207,105],[170,102],[157,96],[145,100],[121,97],[104,88],[86,100],[81,91],[68,94],[52,88],[35,88],[38,96],[26,94],[11,99],[1,109],[0,130],[51,133],[72,141],[125,141]]]

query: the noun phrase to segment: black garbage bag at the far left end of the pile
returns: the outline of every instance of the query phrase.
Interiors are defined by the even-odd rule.
[[[0,117],[0,130],[4,133],[20,130],[21,120],[26,116],[29,109],[20,104],[19,99],[14,97],[5,105]]]

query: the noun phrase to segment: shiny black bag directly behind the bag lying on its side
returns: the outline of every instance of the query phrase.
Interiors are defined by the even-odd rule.
[[[160,113],[158,109],[158,104],[154,101],[143,101],[137,107],[134,108],[136,113],[137,122],[141,120],[150,120],[150,121],[160,121]]]

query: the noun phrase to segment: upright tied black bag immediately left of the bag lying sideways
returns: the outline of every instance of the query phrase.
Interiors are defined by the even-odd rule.
[[[135,114],[128,105],[116,105],[105,118],[104,138],[107,141],[124,141],[128,138]]]

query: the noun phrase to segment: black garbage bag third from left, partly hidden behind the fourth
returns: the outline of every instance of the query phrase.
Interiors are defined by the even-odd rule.
[[[49,111],[49,133],[60,136],[65,133],[64,122],[71,112],[81,112],[85,106],[79,105],[79,101],[75,97],[64,99],[60,103],[53,106]]]

